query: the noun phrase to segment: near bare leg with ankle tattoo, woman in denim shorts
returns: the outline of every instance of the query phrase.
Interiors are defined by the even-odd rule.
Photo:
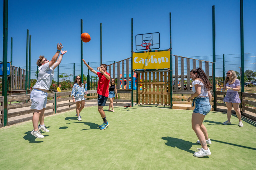
[[[202,148],[207,150],[208,147],[206,144],[205,135],[202,132],[202,130],[200,129],[200,126],[201,126],[204,118],[205,118],[205,115],[193,112],[192,118],[191,118],[191,124],[192,124],[192,129],[196,132],[197,138],[199,139]]]

